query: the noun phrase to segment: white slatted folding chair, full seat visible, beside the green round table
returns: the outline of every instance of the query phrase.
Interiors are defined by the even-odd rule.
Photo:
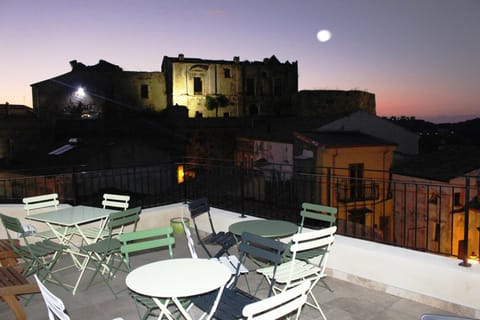
[[[333,226],[310,232],[297,233],[292,237],[292,245],[290,246],[292,259],[290,261],[279,265],[276,273],[272,267],[257,269],[257,272],[263,274],[267,281],[275,281],[275,285],[273,285],[275,293],[287,290],[305,280],[310,280],[311,286],[308,290],[308,296],[312,302],[307,301],[307,304],[317,309],[324,320],[326,320],[325,314],[312,290],[315,285],[321,281],[328,290],[332,291],[324,281],[324,278],[326,277],[325,270],[328,255],[335,239],[336,230],[337,227]],[[315,257],[315,259],[309,259],[309,261],[296,259],[299,252],[320,248],[322,249],[320,251],[321,255]]]

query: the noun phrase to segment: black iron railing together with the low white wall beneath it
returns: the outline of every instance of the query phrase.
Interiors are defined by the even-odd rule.
[[[471,285],[480,280],[480,269],[465,267],[466,252],[478,254],[477,213],[470,201],[454,202],[458,193],[474,198],[469,185],[365,179],[356,181],[355,189],[351,182],[328,171],[281,175],[225,163],[181,162],[3,179],[0,203],[19,204],[25,196],[57,192],[63,203],[95,205],[104,192],[115,191],[129,194],[132,206],[144,208],[142,223],[155,226],[185,214],[179,203],[207,196],[224,230],[252,217],[298,222],[302,202],[336,206],[333,277],[480,316],[480,289]],[[435,203],[433,193],[438,194]]]

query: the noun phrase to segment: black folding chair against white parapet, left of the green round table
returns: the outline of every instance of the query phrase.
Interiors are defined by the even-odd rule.
[[[210,215],[210,206],[208,204],[207,198],[200,198],[197,200],[192,200],[188,204],[188,209],[190,210],[190,216],[193,220],[193,224],[195,227],[195,233],[197,234],[198,241],[202,248],[205,250],[207,255],[211,257],[218,258],[224,254],[230,255],[228,249],[230,249],[233,245],[235,245],[236,240],[234,235],[231,232],[216,232],[213,226],[212,216]],[[197,219],[202,214],[207,214],[208,216],[208,223],[210,226],[210,233],[205,237],[202,238],[200,236]],[[207,245],[218,245],[220,246],[220,250],[218,250],[215,254],[210,253],[207,249]]]

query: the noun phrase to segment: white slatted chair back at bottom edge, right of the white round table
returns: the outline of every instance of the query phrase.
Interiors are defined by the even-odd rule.
[[[302,307],[307,302],[310,281],[304,281],[277,295],[251,303],[243,308],[243,316],[247,320],[280,319],[296,311],[295,319],[300,317]]]

